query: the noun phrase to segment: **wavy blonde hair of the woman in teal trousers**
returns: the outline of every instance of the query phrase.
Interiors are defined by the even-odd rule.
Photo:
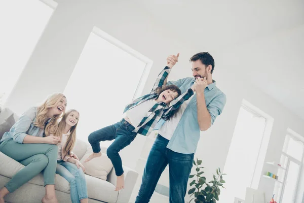
[[[38,107],[38,112],[36,116],[36,120],[34,122],[34,125],[36,127],[43,128],[45,127],[45,123],[47,120],[47,113],[50,108],[56,107],[59,103],[59,101],[65,97],[64,94],[61,93],[55,93],[50,95],[47,100],[40,106]],[[54,115],[48,125],[45,128],[45,135],[49,136],[50,134],[55,133],[57,127],[58,127],[58,119],[62,116],[64,112],[58,115]]]

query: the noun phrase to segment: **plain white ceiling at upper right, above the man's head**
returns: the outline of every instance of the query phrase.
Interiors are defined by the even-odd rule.
[[[242,77],[304,119],[304,1],[134,1],[197,50],[232,50]]]

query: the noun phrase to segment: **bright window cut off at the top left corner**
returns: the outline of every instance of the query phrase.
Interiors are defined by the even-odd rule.
[[[7,0],[0,3],[0,105],[17,82],[57,3]]]

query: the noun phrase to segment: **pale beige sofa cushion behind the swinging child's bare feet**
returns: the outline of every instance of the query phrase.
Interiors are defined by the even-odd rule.
[[[111,160],[106,155],[106,148],[101,147],[102,155],[100,157],[94,158],[88,162],[84,162],[86,158],[89,157],[90,154],[93,153],[91,145],[88,145],[87,152],[84,157],[80,160],[80,162],[86,168],[86,174],[93,176],[95,178],[99,178],[101,180],[106,180],[107,175],[112,170],[113,164]]]

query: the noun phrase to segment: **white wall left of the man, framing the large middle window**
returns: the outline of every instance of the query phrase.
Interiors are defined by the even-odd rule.
[[[17,113],[43,101],[50,92],[64,90],[93,26],[152,59],[154,67],[158,67],[153,75],[166,64],[170,53],[182,50],[183,57],[192,54],[186,43],[170,35],[166,27],[153,24],[153,18],[135,5],[123,1],[57,2],[41,40],[7,100],[7,106]],[[36,94],[29,97],[29,90]]]

